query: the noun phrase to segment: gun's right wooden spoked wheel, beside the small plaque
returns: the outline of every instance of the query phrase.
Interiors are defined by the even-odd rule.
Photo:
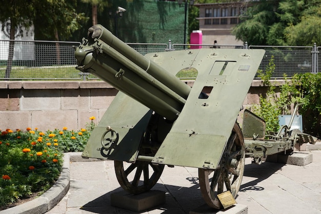
[[[245,164],[245,147],[242,131],[234,124],[217,169],[198,169],[200,191],[205,202],[216,209],[223,208],[217,198],[222,192],[231,191],[236,196],[242,183]]]

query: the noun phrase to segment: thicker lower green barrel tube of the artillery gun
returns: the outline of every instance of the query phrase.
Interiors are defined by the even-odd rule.
[[[183,109],[185,98],[169,88],[168,84],[147,73],[132,58],[124,56],[101,39],[95,38],[90,42],[85,39],[76,49],[75,57],[79,66],[77,69],[93,73],[169,120],[175,120]],[[168,72],[163,75],[177,79],[184,88],[188,87]],[[188,88],[190,90],[190,87]],[[180,90],[182,91],[184,89]]]

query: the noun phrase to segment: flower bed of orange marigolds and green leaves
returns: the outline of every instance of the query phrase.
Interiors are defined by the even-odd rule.
[[[64,152],[83,151],[95,123],[86,129],[41,132],[7,129],[0,135],[0,208],[48,190],[59,177]],[[1,209],[0,209],[1,210]]]

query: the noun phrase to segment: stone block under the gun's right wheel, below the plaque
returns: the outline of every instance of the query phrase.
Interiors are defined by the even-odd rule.
[[[247,214],[248,206],[242,204],[235,204],[230,208],[224,210],[215,210],[214,208],[204,204],[196,209],[193,209],[189,214]]]

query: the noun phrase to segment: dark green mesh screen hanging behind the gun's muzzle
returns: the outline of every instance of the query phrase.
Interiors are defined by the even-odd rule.
[[[98,17],[98,23],[114,35],[117,31],[117,36],[123,41],[167,44],[170,39],[176,44],[184,43],[184,2],[179,5],[177,2],[134,0],[113,1],[112,5],[113,15]],[[122,17],[114,15],[118,6],[127,10]]]

